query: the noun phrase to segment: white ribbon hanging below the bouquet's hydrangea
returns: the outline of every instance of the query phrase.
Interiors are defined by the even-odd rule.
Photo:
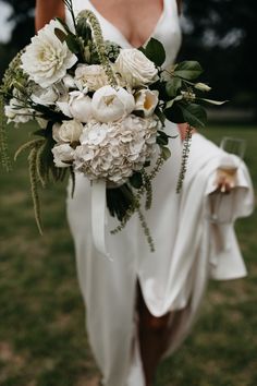
[[[106,249],[106,181],[91,183],[91,232],[96,249],[110,257]]]

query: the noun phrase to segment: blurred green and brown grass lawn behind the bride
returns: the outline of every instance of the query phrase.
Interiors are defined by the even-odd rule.
[[[27,135],[10,128],[12,154]],[[206,135],[245,137],[257,182],[256,128],[217,126]],[[25,156],[11,174],[1,172],[0,186],[0,385],[88,385],[98,371],[84,330],[65,184],[42,194],[44,237],[34,222]],[[194,334],[159,366],[157,386],[257,385],[256,224],[256,215],[237,224],[249,276],[210,284]]]

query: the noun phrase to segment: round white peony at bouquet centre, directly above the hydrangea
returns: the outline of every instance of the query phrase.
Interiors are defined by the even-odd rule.
[[[93,116],[97,121],[111,122],[131,113],[135,108],[135,100],[132,94],[125,88],[103,86],[93,96]]]

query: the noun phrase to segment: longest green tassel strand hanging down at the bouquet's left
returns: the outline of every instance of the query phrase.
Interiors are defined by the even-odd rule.
[[[30,190],[32,190],[35,220],[36,220],[39,233],[42,234],[41,216],[40,216],[40,201],[39,201],[39,195],[38,195],[38,183],[37,183],[38,182],[38,180],[37,180],[37,152],[38,152],[38,149],[36,147],[33,147],[29,153],[28,170],[29,170]]]

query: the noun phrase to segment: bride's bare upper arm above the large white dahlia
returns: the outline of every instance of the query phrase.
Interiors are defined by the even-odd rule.
[[[44,27],[53,17],[64,20],[65,10],[62,0],[37,0],[35,10],[35,27],[36,31]]]

